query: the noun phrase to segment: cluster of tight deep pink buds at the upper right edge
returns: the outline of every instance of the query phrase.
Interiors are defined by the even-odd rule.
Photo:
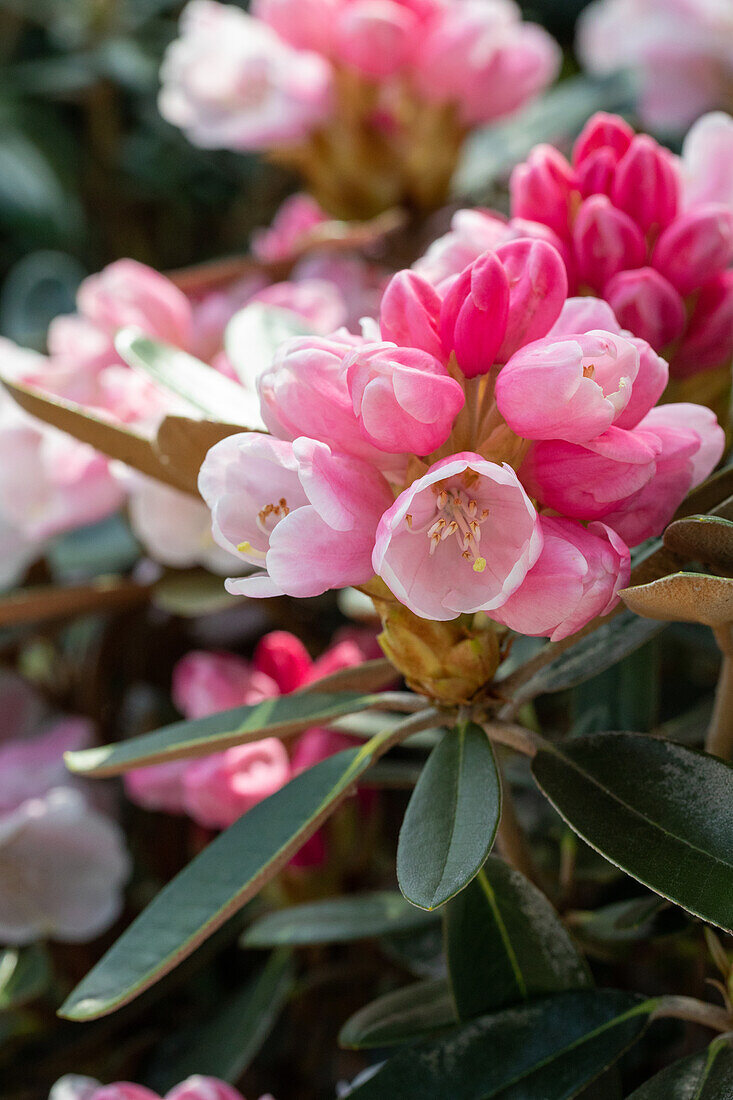
[[[558,234],[571,289],[605,298],[623,329],[669,360],[672,376],[733,354],[731,128],[724,116],[701,120],[677,158],[601,112],[571,162],[539,145],[512,173],[513,213]]]

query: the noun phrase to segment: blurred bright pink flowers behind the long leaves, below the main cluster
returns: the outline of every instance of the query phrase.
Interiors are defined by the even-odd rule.
[[[187,718],[203,718],[289,694],[360,664],[364,656],[362,646],[344,639],[314,661],[294,635],[276,630],[260,640],[251,662],[233,653],[188,653],[174,670],[173,700]],[[313,728],[296,739],[288,755],[282,740],[267,737],[197,760],[136,769],[125,776],[125,789],[147,810],[188,814],[207,828],[226,828],[293,776],[348,745],[336,730]],[[322,836],[317,834],[296,860],[318,862],[322,854]]]

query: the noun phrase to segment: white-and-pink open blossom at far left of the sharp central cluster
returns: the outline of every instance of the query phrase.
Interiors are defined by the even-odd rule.
[[[219,544],[265,569],[227,582],[229,592],[251,596],[315,596],[365,583],[376,524],[392,501],[365,462],[313,439],[291,444],[258,432],[217,443],[199,490]]]

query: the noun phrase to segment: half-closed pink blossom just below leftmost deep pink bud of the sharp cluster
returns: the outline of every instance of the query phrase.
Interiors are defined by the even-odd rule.
[[[418,348],[364,344],[346,356],[343,371],[361,429],[382,451],[429,454],[463,407],[460,385]]]

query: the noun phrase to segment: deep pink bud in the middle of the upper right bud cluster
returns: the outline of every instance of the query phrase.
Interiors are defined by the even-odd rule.
[[[646,257],[644,238],[632,219],[605,195],[593,195],[580,207],[572,227],[578,280],[602,290],[619,272],[638,267]]]

